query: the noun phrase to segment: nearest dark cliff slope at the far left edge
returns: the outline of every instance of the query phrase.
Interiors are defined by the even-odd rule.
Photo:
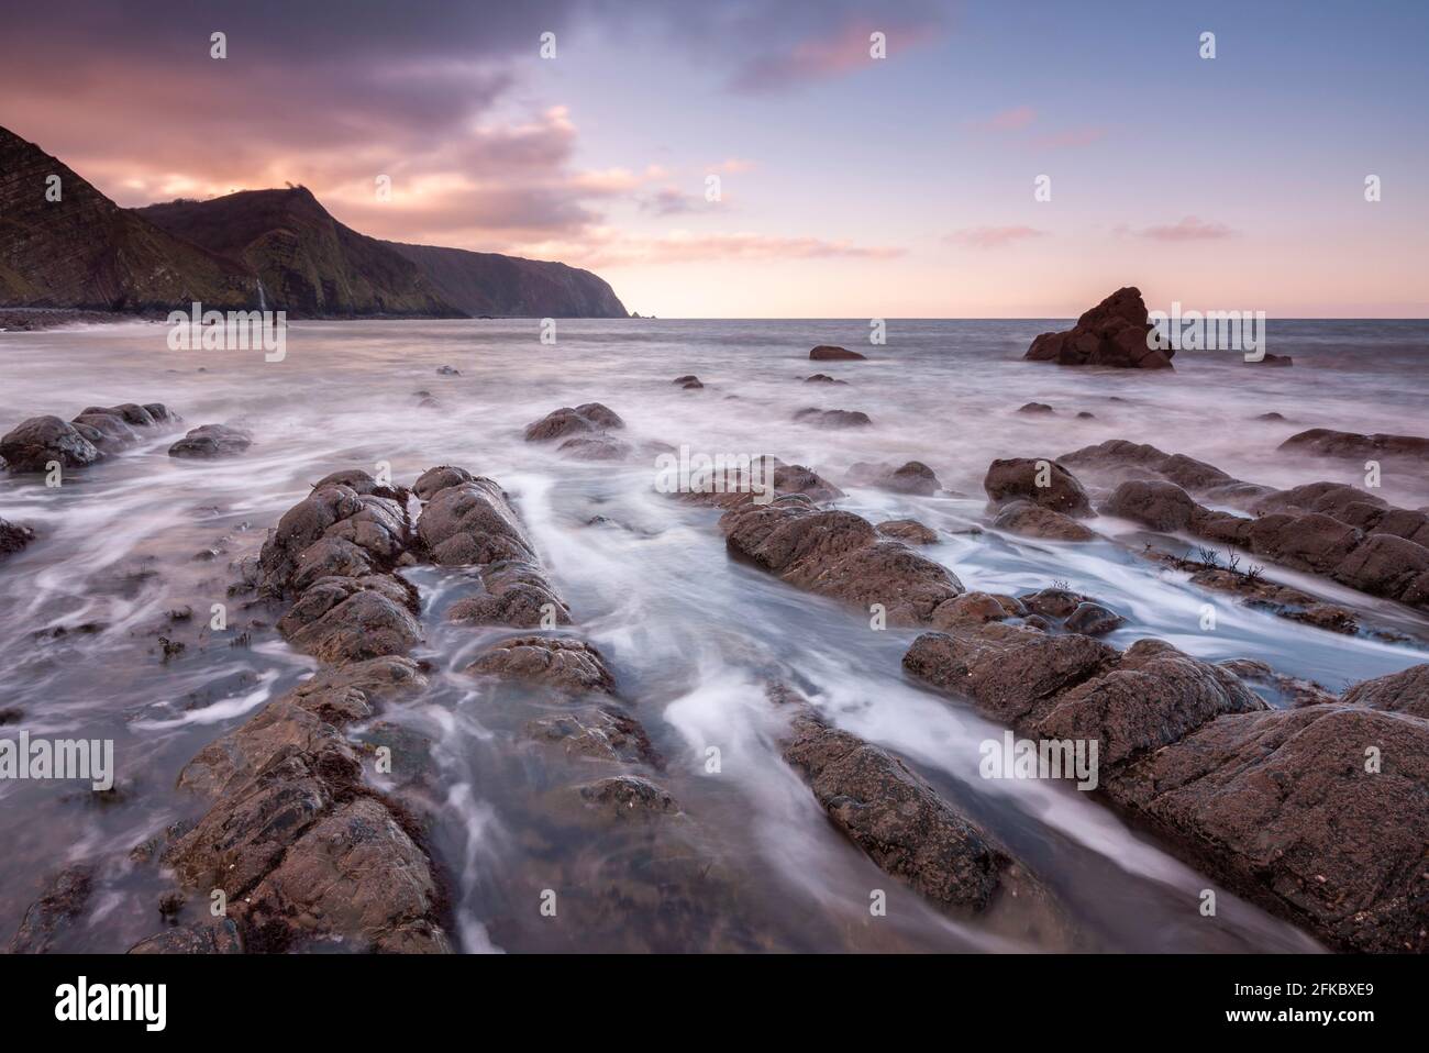
[[[60,177],[60,200],[46,200]],[[257,303],[242,264],[120,209],[69,166],[0,127],[0,303],[139,311]]]

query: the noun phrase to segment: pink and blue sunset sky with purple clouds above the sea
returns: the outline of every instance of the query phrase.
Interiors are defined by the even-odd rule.
[[[660,317],[1429,317],[1426,47],[1423,0],[0,0],[0,124]]]

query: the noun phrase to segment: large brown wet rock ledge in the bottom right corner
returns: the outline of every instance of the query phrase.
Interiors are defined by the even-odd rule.
[[[1272,710],[1160,640],[1117,652],[999,623],[925,633],[903,664],[1023,734],[1097,740],[1112,802],[1332,944],[1425,949],[1429,722],[1356,702],[1413,706],[1422,673]],[[1368,746],[1395,763],[1372,774]],[[1405,826],[1380,839],[1375,814]]]

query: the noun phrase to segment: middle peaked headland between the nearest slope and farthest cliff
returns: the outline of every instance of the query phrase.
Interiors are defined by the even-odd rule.
[[[334,220],[303,187],[136,209],[156,227],[242,261],[272,310],[296,317],[462,317],[432,281],[377,239]]]

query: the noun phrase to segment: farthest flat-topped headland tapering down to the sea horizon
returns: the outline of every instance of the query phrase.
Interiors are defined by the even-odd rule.
[[[589,270],[519,256],[384,241],[412,260],[447,303],[472,316],[626,319],[610,283]]]

